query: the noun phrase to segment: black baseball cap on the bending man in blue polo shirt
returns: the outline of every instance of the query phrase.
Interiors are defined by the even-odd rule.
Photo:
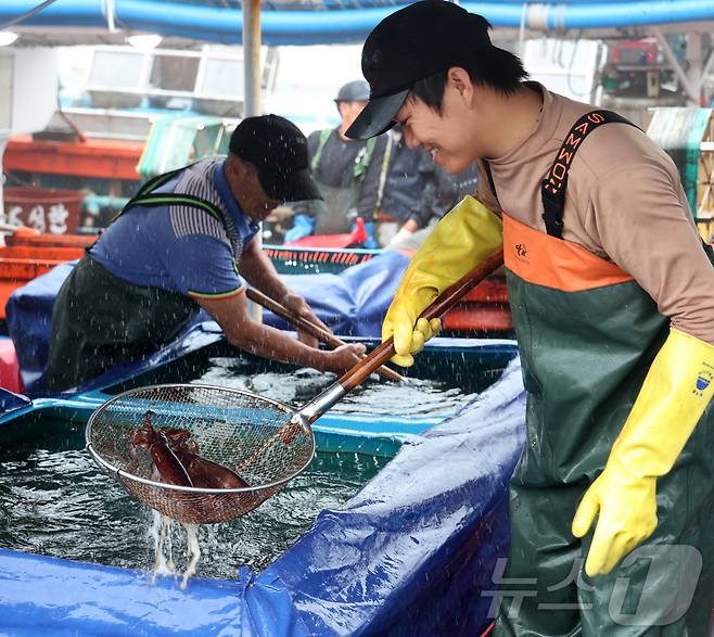
[[[284,117],[246,117],[230,136],[228,150],[257,168],[269,196],[280,201],[322,199],[310,176],[307,139]]]

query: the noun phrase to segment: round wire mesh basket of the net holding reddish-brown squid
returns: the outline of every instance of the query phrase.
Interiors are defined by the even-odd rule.
[[[255,509],[310,463],[313,430],[292,420],[294,413],[288,405],[241,390],[199,384],[139,387],[92,413],[87,449],[136,499],[179,522],[215,524]],[[190,457],[199,457],[202,473],[229,470],[244,481],[243,486],[167,482],[162,456],[146,442],[146,431],[164,443],[182,441]],[[169,450],[158,444],[166,460],[173,462],[171,455],[183,458],[175,444]],[[187,471],[191,476],[191,469]]]

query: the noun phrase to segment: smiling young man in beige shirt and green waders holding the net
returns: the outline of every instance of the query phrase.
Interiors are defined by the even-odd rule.
[[[666,154],[616,114],[525,82],[488,27],[426,0],[365,43],[371,100],[347,136],[398,122],[447,171],[482,173],[477,200],[415,256],[383,336],[410,365],[438,329],[419,314],[502,246],[527,407],[495,634],[704,637],[711,250]]]

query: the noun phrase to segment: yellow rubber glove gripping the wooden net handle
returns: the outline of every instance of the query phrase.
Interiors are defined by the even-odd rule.
[[[394,362],[413,365],[412,354],[441,329],[417,317],[444,290],[489,257],[503,244],[500,217],[468,195],[454,206],[412,257],[382,323],[382,341],[394,335]]]

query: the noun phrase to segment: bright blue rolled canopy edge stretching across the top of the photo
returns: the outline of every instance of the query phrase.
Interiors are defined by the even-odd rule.
[[[118,28],[150,31],[208,42],[242,42],[243,15],[235,0],[62,0],[34,13],[37,0],[3,0],[0,28],[29,14],[21,27],[52,30]],[[168,7],[170,4],[170,8]],[[264,2],[262,39],[266,44],[319,44],[362,41],[390,13],[408,4],[388,0],[322,0]],[[521,26],[562,34],[566,30],[607,29],[706,22],[714,18],[714,0],[570,0],[522,2],[490,0],[462,2],[495,27]],[[280,7],[276,9],[275,7]],[[109,14],[107,11],[113,11]],[[582,35],[582,34],[581,34]]]

